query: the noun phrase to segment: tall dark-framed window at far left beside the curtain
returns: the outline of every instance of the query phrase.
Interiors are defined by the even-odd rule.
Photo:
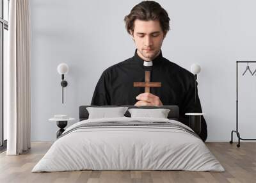
[[[9,0],[0,0],[0,151],[6,146],[6,124],[3,123],[3,63],[7,58]],[[6,147],[5,147],[6,148]]]

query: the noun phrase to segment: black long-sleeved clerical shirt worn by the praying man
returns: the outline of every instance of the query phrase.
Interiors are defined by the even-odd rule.
[[[93,106],[133,106],[138,102],[136,96],[145,92],[143,87],[134,87],[134,82],[145,82],[145,67],[137,51],[132,58],[107,68],[100,77],[93,93]],[[153,60],[150,82],[161,82],[160,88],[150,88],[150,93],[159,97],[164,106],[179,106],[179,121],[189,125],[185,113],[202,113],[196,92],[195,78],[188,70],[163,58],[162,52]],[[197,83],[196,83],[197,91]],[[203,141],[207,138],[207,125],[202,118]]]

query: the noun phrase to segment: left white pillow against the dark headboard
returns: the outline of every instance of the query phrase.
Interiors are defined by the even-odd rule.
[[[86,107],[89,117],[95,118],[118,118],[125,117],[124,114],[128,107]]]

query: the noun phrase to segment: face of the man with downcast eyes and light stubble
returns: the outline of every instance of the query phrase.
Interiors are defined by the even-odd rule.
[[[158,20],[136,19],[132,38],[138,49],[138,55],[143,60],[152,61],[160,52],[164,33]]]

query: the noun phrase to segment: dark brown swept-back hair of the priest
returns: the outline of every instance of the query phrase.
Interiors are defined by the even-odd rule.
[[[132,8],[129,15],[125,16],[125,28],[129,34],[131,34],[130,31],[132,33],[134,31],[134,21],[136,19],[145,21],[159,20],[164,35],[170,29],[168,13],[155,1],[142,1]]]

